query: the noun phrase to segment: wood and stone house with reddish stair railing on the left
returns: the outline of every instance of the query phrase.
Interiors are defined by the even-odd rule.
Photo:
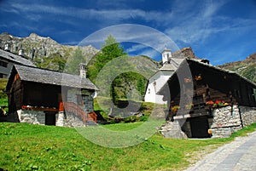
[[[92,124],[96,122],[96,90],[83,75],[15,65],[6,87],[9,118],[14,122],[57,126]]]

